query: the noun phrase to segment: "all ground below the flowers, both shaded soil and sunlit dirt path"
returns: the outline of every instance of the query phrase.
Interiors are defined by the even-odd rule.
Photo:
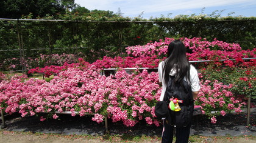
[[[0,129],[0,143],[161,142],[162,126],[155,127],[146,122],[139,122],[132,128],[125,127],[121,122],[108,122],[110,132],[106,136],[105,125],[91,121],[90,117],[59,115],[58,120],[44,122],[38,118],[21,118],[18,114],[6,116],[7,127]],[[246,113],[219,116],[216,124],[210,123],[207,116],[200,116],[200,136],[193,135],[196,125],[192,124],[190,141],[256,143],[256,110],[251,113],[251,130],[244,125],[245,121]]]

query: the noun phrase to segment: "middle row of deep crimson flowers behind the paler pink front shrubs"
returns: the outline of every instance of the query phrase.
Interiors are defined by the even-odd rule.
[[[252,62],[255,62],[254,59],[250,62],[245,62],[241,58],[256,58],[256,55],[254,54],[256,52],[256,48],[254,50],[241,50],[240,52],[232,51],[232,52],[225,52],[225,51],[210,51],[210,50],[204,50],[203,52],[193,52],[193,53],[187,53],[188,60],[189,61],[199,61],[199,60],[208,60],[212,59],[215,61],[215,65],[228,65],[228,66],[240,66],[240,67],[249,67],[249,65]],[[121,58],[119,56],[116,56],[115,58],[111,58],[108,56],[104,56],[103,59],[98,59],[95,62],[93,62],[93,65],[95,65],[96,68],[102,69],[102,68],[129,68],[129,67],[148,67],[148,68],[156,68],[158,67],[158,63],[165,58],[157,58],[156,55],[153,56],[142,56],[133,58],[130,56],[126,56],[124,58]],[[219,61],[219,59],[226,59],[227,61],[224,61],[222,63]],[[229,61],[229,59],[235,59],[236,62]],[[82,60],[81,58],[79,60]],[[80,61],[79,61],[80,62]],[[89,64],[87,62],[87,64]],[[67,64],[65,63],[62,66],[57,65],[51,65],[46,66],[44,68],[32,68],[28,71],[28,73],[45,73],[46,76],[50,76],[52,74],[58,74],[60,71],[65,70],[67,67],[74,67],[74,65],[80,65],[79,63],[72,63]],[[208,65],[207,63],[204,63],[204,67]]]

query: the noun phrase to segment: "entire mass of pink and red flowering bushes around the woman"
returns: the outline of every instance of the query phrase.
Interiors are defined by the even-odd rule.
[[[166,38],[165,41],[127,47],[130,56],[104,56],[91,64],[79,58],[76,63],[65,62],[28,71],[44,73],[47,77],[55,75],[50,81],[26,76],[6,79],[2,75],[1,107],[5,107],[6,113],[19,111],[21,116],[46,112],[57,119],[55,111],[70,111],[72,116],[93,114],[92,120],[98,123],[107,117],[113,122],[121,121],[127,127],[143,119],[150,125],[159,125],[154,115],[154,105],[162,91],[158,73],[133,70],[128,74],[123,68],[158,67],[172,40]],[[182,41],[188,48],[188,59],[212,60],[200,69],[201,90],[196,106],[201,107],[213,123],[218,115],[224,116],[231,111],[240,113],[247,94],[255,97],[255,59],[244,61],[242,58],[255,58],[256,49],[244,51],[238,44],[216,39],[208,42],[201,38],[184,38]],[[105,76],[100,74],[103,68],[118,70]],[[40,119],[44,121],[46,118],[42,116]]]

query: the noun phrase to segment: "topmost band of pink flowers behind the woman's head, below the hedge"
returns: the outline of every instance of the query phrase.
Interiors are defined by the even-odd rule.
[[[209,42],[207,39],[202,38],[181,38],[182,42],[185,44],[185,47],[188,48],[188,53],[197,53],[198,58],[201,58],[198,53],[208,52],[208,51],[224,51],[224,52],[238,52],[241,50],[239,44],[230,44],[223,41],[218,41],[214,39],[214,41]],[[165,41],[160,39],[160,42],[148,43],[146,45],[135,45],[132,47],[127,47],[126,52],[128,55],[132,55],[134,57],[144,57],[144,56],[159,56],[163,57],[167,53],[168,45],[171,41],[174,41],[173,38],[166,38]]]

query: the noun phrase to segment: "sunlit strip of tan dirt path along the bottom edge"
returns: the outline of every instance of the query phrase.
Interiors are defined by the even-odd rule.
[[[256,137],[239,137],[239,138],[215,138],[215,137],[198,137],[200,139],[197,139],[198,141],[195,142],[237,142],[237,143],[255,143]],[[116,138],[113,141],[104,141],[101,137],[100,138],[93,138],[90,137],[76,137],[76,136],[56,136],[56,135],[48,135],[48,134],[41,134],[41,135],[35,135],[32,133],[19,133],[19,132],[13,132],[13,131],[1,131],[0,133],[0,142],[8,142],[8,143],[45,143],[45,142],[51,142],[51,143],[94,143],[94,142],[160,142],[160,139],[152,139],[152,140],[140,140],[140,141],[122,141],[120,138]],[[193,141],[194,142],[194,141]]]

